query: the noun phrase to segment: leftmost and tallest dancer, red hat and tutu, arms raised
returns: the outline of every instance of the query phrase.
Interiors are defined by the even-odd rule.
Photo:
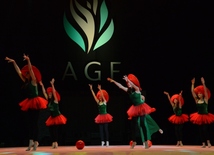
[[[37,82],[41,80],[41,74],[39,70],[31,65],[30,58],[24,54],[24,60],[27,61],[21,70],[16,64],[15,60],[8,57],[5,60],[8,63],[13,63],[16,72],[24,82],[23,88],[26,89],[27,99],[19,103],[22,111],[28,112],[28,126],[29,126],[29,146],[26,151],[30,151],[33,147],[33,151],[36,151],[38,143],[38,119],[39,110],[47,108],[47,101],[38,96]]]

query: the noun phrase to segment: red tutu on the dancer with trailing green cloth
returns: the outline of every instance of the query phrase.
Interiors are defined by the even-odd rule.
[[[127,114],[129,117],[136,117],[136,116],[150,114],[154,111],[156,111],[155,108],[151,108],[148,104],[143,103],[137,106],[132,105],[127,111]]]

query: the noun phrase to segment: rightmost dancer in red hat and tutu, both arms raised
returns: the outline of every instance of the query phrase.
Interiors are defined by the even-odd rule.
[[[214,115],[208,112],[208,100],[211,96],[210,90],[205,85],[205,80],[202,77],[201,83],[202,85],[194,88],[195,78],[192,79],[191,92],[192,96],[195,99],[195,103],[198,109],[198,112],[195,112],[190,115],[190,121],[193,124],[197,124],[199,126],[200,136],[202,140],[202,148],[207,145],[210,148],[210,137],[208,132],[209,124],[214,122]]]

